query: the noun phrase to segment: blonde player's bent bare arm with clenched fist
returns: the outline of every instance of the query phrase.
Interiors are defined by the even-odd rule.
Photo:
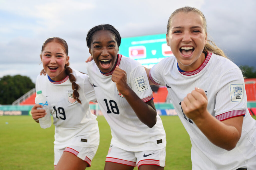
[[[214,145],[232,150],[241,137],[243,116],[220,122],[208,112],[207,104],[207,96],[204,90],[195,88],[181,102],[181,107],[184,114],[193,120]]]

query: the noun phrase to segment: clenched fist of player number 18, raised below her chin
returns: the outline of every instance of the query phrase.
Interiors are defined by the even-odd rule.
[[[127,84],[127,75],[119,66],[116,66],[113,71],[111,80],[115,82],[116,88],[121,94],[125,95],[125,93],[127,93],[127,88],[130,88]]]

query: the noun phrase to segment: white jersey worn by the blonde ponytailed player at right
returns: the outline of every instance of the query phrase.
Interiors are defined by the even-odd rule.
[[[193,169],[237,169],[247,167],[246,161],[253,156],[255,158],[256,121],[247,109],[243,75],[233,62],[208,53],[197,70],[182,72],[172,56],[152,67],[150,79],[157,85],[167,87],[174,108],[190,136]],[[195,87],[205,90],[207,109],[219,121],[244,115],[242,135],[233,150],[227,151],[211,143],[195,123],[183,114],[180,102]]]

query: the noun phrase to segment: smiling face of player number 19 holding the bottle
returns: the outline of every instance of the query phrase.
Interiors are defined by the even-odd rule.
[[[47,43],[40,57],[44,70],[52,80],[60,81],[67,76],[64,67],[68,63],[69,56],[60,43],[55,41]]]

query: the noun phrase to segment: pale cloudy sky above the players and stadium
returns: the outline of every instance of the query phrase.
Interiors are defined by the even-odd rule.
[[[122,38],[163,34],[170,14],[183,6],[204,13],[211,40],[234,63],[256,65],[254,0],[0,0],[0,78],[21,74],[35,82],[42,69],[41,46],[53,36],[67,41],[70,66],[87,72],[90,28],[109,23]]]

